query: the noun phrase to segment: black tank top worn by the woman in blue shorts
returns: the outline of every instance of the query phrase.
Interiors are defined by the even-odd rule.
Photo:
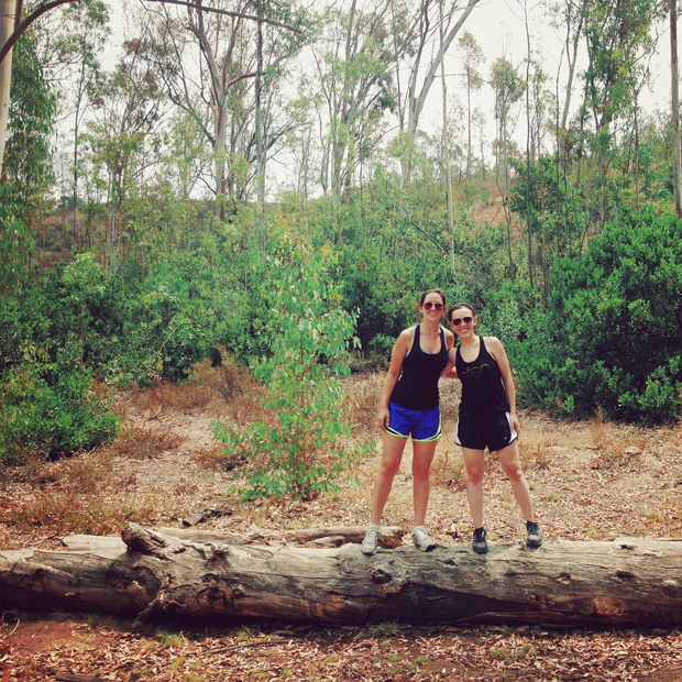
[[[427,353],[419,345],[420,327],[415,327],[413,345],[403,360],[403,373],[393,389],[391,402],[407,409],[438,407],[438,380],[448,364],[446,330],[440,328],[440,350]]]

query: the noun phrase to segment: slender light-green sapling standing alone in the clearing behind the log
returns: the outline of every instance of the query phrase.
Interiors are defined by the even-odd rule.
[[[310,499],[337,490],[343,469],[362,449],[351,441],[339,376],[350,373],[355,316],[342,309],[333,283],[338,260],[330,246],[314,251],[286,238],[268,273],[272,298],[266,331],[271,355],[253,361],[268,389],[263,399],[277,426],[256,422],[245,432],[218,424],[216,438],[243,452],[245,496],[290,495]]]

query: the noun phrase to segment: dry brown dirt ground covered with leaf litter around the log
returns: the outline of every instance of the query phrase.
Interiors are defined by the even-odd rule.
[[[381,375],[346,382],[353,432],[374,428]],[[444,437],[432,469],[428,524],[441,543],[471,542],[464,472],[452,433],[455,382],[441,389]],[[146,402],[145,402],[146,400]],[[78,458],[30,462],[0,479],[0,548],[61,547],[73,532],[117,535],[130,520],[246,534],[257,528],[364,525],[381,442],[355,472],[360,485],[304,502],[240,501],[212,439],[216,419],[249,420],[244,405],[119,396],[123,433]],[[234,402],[233,402],[234,403]],[[522,413],[520,449],[546,538],[682,537],[682,428]],[[411,450],[384,522],[411,529]],[[486,463],[488,540],[524,538],[524,519],[494,457]],[[409,536],[407,536],[409,537]],[[409,542],[409,540],[407,540]],[[28,614],[0,605],[0,682],[33,680],[618,680],[682,681],[682,634],[540,627],[356,628],[283,623],[139,624],[81,614]]]

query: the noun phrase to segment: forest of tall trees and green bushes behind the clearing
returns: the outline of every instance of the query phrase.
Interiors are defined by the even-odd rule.
[[[42,13],[13,48],[4,463],[96,447],[118,428],[112,392],[207,359],[274,381],[296,415],[282,367],[315,391],[382,366],[435,286],[481,310],[522,405],[680,416],[674,1],[520,0],[518,63],[468,32],[495,11],[479,0],[128,7],[116,56],[102,0]],[[551,64],[531,14],[564,36]],[[664,46],[672,97],[645,110]],[[333,394],[315,395],[329,424]]]

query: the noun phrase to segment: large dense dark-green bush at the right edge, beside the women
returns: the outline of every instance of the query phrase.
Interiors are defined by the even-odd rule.
[[[681,323],[682,223],[628,213],[560,262],[548,310],[524,319],[524,394],[578,416],[670,421],[682,414]]]

